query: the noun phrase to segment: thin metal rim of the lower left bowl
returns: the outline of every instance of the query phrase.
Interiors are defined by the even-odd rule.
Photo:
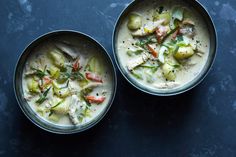
[[[91,42],[93,42],[95,45],[97,45],[98,47],[101,48],[101,50],[103,51],[102,53],[105,54],[107,60],[111,63],[112,65],[112,72],[113,72],[113,94],[111,95],[111,99],[110,101],[108,102],[107,106],[104,108],[104,112],[101,114],[101,115],[98,115],[98,117],[96,117],[97,119],[94,121],[94,122],[91,122],[91,123],[88,123],[86,126],[84,126],[84,128],[79,128],[79,129],[76,129],[76,130],[65,130],[65,131],[58,131],[57,129],[50,129],[50,128],[47,128],[43,125],[41,125],[40,123],[38,123],[37,121],[35,121],[33,118],[32,118],[32,115],[29,115],[27,114],[27,112],[25,111],[25,109],[22,107],[23,104],[20,103],[20,99],[18,98],[18,95],[17,95],[17,89],[16,89],[16,73],[17,73],[17,68],[19,66],[19,63],[22,59],[22,56],[26,53],[27,49],[34,45],[37,41],[41,40],[42,38],[47,38],[47,36],[50,36],[50,35],[60,35],[60,34],[63,34],[63,33],[72,33],[72,34],[77,34],[78,36],[84,36],[85,38],[91,40]],[[33,46],[34,47],[34,46]],[[35,124],[36,126],[38,126],[39,128],[41,128],[42,130],[45,130],[47,132],[50,132],[50,133],[54,133],[54,134],[75,134],[75,133],[80,133],[80,132],[84,132],[92,127],[94,127],[96,124],[98,124],[104,117],[105,115],[107,114],[107,112],[110,110],[111,108],[111,105],[113,104],[114,102],[114,99],[115,99],[115,96],[116,96],[116,90],[117,90],[117,73],[116,73],[116,68],[115,68],[115,64],[113,63],[113,60],[110,56],[110,54],[108,53],[108,51],[105,49],[105,47],[99,43],[95,38],[93,38],[92,36],[86,34],[86,33],[83,33],[83,32],[80,32],[80,31],[76,31],[76,30],[71,30],[71,29],[58,29],[58,30],[53,30],[53,31],[49,31],[49,32],[46,32],[46,33],[43,33],[41,35],[39,35],[38,37],[36,37],[34,40],[32,40],[31,42],[29,42],[27,44],[27,46],[25,46],[23,48],[23,51],[21,52],[20,56],[18,57],[17,59],[17,62],[15,64],[15,68],[14,68],[14,74],[13,74],[13,88],[14,88],[14,95],[16,97],[16,100],[17,100],[17,103],[18,103],[18,106],[20,107],[20,109],[22,110],[22,112],[24,113],[24,115],[33,123]],[[35,111],[33,111],[35,112]],[[42,122],[43,123],[43,122]]]

